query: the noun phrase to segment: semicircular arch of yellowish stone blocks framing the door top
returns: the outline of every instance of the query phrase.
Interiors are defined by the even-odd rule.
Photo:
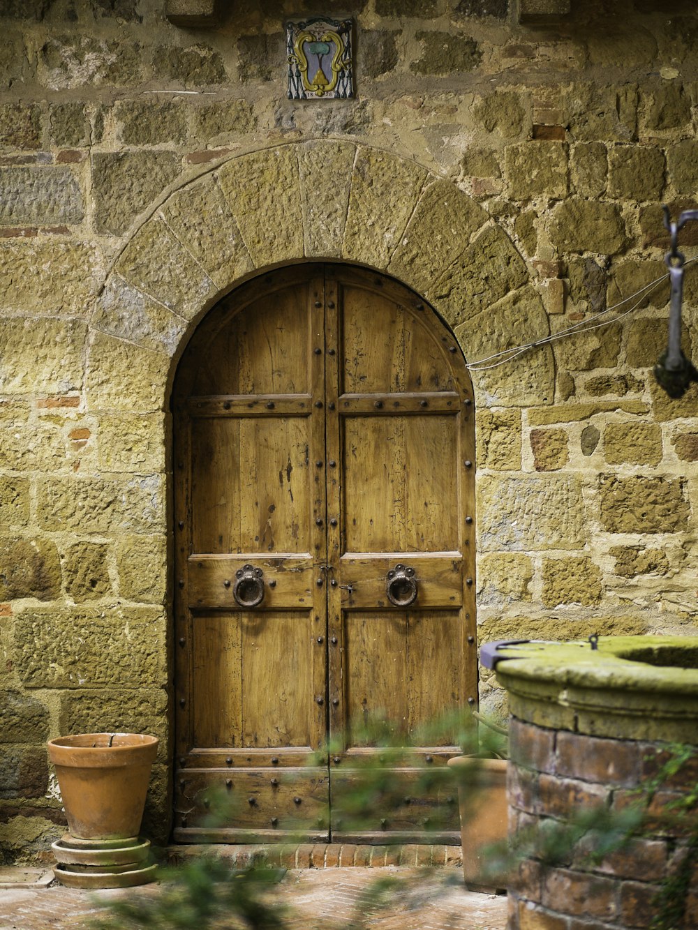
[[[307,259],[356,262],[412,287],[469,361],[549,333],[517,248],[452,181],[352,142],[291,143],[211,168],[132,235],[91,314],[89,405],[110,405],[128,370],[130,403],[135,387],[164,409],[172,359],[203,313],[246,278]],[[473,379],[481,405],[550,404],[552,351]]]

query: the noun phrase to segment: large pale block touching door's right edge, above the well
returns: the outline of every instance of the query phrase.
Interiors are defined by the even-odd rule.
[[[481,475],[477,498],[482,551],[584,547],[584,498],[575,475]]]

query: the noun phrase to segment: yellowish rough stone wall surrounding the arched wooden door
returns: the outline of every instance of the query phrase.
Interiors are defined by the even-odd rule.
[[[168,385],[215,299],[275,261],[359,261],[474,362],[661,276],[660,203],[698,206],[693,3],[230,6],[186,31],[164,0],[0,3],[7,855],[60,830],[43,742],[76,728],[162,737],[167,832]],[[287,100],[290,7],[355,13],[356,100]],[[698,386],[651,378],[667,295],[473,373],[482,641],[694,629]],[[694,269],[686,304],[690,352]]]

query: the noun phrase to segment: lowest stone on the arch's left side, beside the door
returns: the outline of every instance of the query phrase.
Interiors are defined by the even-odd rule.
[[[166,354],[96,333],[87,354],[87,405],[91,410],[162,410],[169,365]]]

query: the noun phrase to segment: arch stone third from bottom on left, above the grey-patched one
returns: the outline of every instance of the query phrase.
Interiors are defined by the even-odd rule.
[[[114,271],[187,320],[192,319],[218,290],[207,272],[158,217],[141,226],[119,256]]]

